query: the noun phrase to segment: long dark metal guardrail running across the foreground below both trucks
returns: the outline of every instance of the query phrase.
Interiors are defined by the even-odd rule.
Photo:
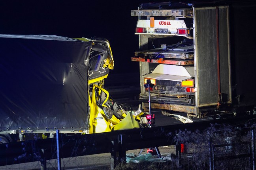
[[[95,134],[59,134],[59,157],[77,157],[98,153],[111,153],[114,167],[125,161],[126,151],[141,148],[175,145],[179,130],[206,129],[210,124],[240,124],[256,122],[256,115],[234,117],[223,120],[176,124],[151,128],[129,129]],[[46,160],[57,158],[56,138],[27,140],[0,144],[0,166],[41,161],[46,169]]]

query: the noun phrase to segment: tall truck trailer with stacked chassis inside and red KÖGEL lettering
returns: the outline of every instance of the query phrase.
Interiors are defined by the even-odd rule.
[[[249,31],[255,6],[166,2],[132,10],[139,37],[132,61],[139,62],[143,109],[189,118],[256,114],[256,36]]]

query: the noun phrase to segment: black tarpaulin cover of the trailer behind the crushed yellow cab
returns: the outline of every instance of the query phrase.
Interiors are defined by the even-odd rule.
[[[87,128],[92,42],[0,35],[0,131]]]

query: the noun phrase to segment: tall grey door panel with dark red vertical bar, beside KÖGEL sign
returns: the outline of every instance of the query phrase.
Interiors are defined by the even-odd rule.
[[[228,6],[194,8],[196,107],[231,103]]]

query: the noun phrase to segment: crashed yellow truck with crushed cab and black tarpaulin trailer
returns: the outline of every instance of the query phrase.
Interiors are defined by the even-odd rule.
[[[104,89],[107,39],[0,35],[0,44],[0,143],[139,127]]]

